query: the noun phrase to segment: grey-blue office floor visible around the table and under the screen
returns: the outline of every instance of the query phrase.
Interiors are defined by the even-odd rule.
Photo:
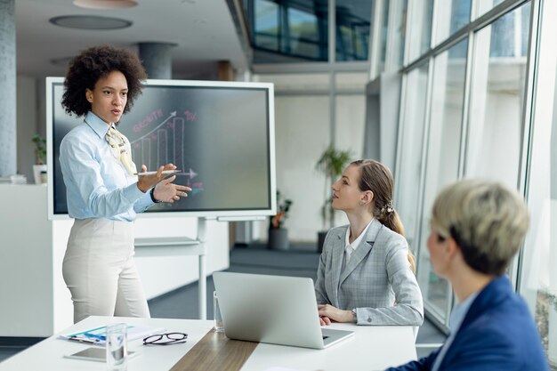
[[[250,246],[238,246],[230,252],[230,271],[243,273],[274,274],[282,276],[309,277],[315,279],[319,254],[314,244],[293,244],[288,251],[273,251],[265,244],[254,242]],[[214,291],[212,278],[207,278],[207,292]],[[149,300],[153,318],[197,319],[198,286],[191,284]],[[207,295],[207,319],[213,319],[213,297]],[[36,339],[38,341],[39,339]],[[429,321],[424,321],[416,340],[418,357],[432,351],[427,344],[439,344],[445,340]],[[0,343],[0,361],[27,348],[29,344]]]

